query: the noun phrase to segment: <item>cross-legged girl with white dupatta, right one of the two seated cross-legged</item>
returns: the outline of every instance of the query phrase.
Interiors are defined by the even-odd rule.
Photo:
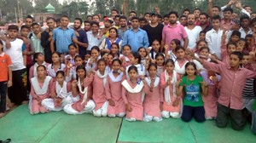
[[[88,90],[88,82],[85,80],[86,71],[84,66],[77,66],[77,80],[73,80],[72,82],[72,94],[73,98],[76,98],[73,104],[67,104],[64,106],[64,112],[67,114],[83,114],[83,113],[91,113],[95,108],[95,103],[91,100],[91,94]]]

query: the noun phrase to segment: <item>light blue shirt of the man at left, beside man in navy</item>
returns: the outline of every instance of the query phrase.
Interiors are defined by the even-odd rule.
[[[68,52],[68,45],[72,43],[72,38],[76,38],[75,32],[72,28],[61,29],[57,27],[53,31],[53,40],[56,44],[56,51],[60,53]]]

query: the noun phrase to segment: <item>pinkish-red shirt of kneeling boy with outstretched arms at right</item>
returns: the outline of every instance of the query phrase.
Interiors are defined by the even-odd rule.
[[[247,78],[256,77],[256,72],[247,70],[246,68],[239,68],[237,71],[232,71],[231,67],[223,62],[215,64],[203,60],[202,65],[207,70],[218,72],[221,75],[218,103],[231,109],[241,110],[243,106],[242,89],[245,86]]]

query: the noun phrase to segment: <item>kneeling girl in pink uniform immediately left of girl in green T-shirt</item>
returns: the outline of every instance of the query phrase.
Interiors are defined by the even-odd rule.
[[[182,113],[181,96],[176,94],[176,83],[180,77],[174,70],[174,62],[172,59],[166,60],[166,70],[160,74],[160,87],[164,92],[164,100],[161,104],[162,117],[179,118]]]

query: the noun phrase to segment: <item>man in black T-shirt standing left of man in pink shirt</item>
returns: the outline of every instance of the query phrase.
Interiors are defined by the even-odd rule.
[[[158,40],[159,42],[162,40],[162,30],[164,25],[158,23],[158,15],[159,14],[151,13],[149,17],[151,23],[143,27],[143,30],[147,31],[148,34],[149,46],[152,45],[154,40]]]

